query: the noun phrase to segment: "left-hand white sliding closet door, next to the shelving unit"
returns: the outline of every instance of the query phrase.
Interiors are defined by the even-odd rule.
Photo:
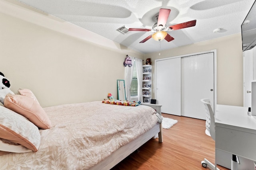
[[[156,101],[162,113],[181,115],[180,58],[156,61]]]

